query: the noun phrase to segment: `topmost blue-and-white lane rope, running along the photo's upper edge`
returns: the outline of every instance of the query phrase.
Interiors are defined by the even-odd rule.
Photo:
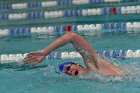
[[[39,7],[56,7],[56,6],[68,6],[68,5],[81,5],[81,4],[99,4],[99,3],[124,3],[124,2],[138,2],[138,0],[53,0],[42,2],[20,2],[20,3],[8,3],[0,4],[0,9],[28,9]]]

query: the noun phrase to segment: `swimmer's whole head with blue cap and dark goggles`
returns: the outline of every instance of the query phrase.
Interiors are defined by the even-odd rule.
[[[84,71],[84,67],[71,61],[61,63],[58,67],[61,72],[71,76],[79,76]]]

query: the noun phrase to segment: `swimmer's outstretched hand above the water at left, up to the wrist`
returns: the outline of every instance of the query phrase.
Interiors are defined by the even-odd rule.
[[[34,52],[27,54],[27,56],[23,59],[23,62],[25,64],[31,63],[33,65],[36,65],[36,64],[40,63],[42,60],[44,60],[45,57],[46,57],[46,55],[44,54],[44,52],[42,50],[34,51]]]

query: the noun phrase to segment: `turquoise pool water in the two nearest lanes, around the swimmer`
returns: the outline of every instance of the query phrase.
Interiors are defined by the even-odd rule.
[[[108,34],[96,37],[84,37],[97,51],[137,50],[140,47],[140,34]],[[34,37],[2,38],[0,54],[27,53],[47,47],[56,38],[37,39]],[[74,51],[71,44],[55,51]],[[22,63],[0,64],[0,93],[139,93],[140,58],[107,58],[124,69],[127,76],[103,77],[92,73],[89,77],[71,77],[54,72],[56,64],[67,60],[50,59],[32,67]]]

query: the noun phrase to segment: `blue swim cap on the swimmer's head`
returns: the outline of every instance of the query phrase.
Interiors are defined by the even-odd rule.
[[[73,63],[74,63],[74,62],[67,61],[67,62],[58,64],[57,66],[55,66],[54,71],[55,71],[56,73],[60,74],[60,73],[63,71],[65,65],[69,65],[69,64],[73,64]]]

